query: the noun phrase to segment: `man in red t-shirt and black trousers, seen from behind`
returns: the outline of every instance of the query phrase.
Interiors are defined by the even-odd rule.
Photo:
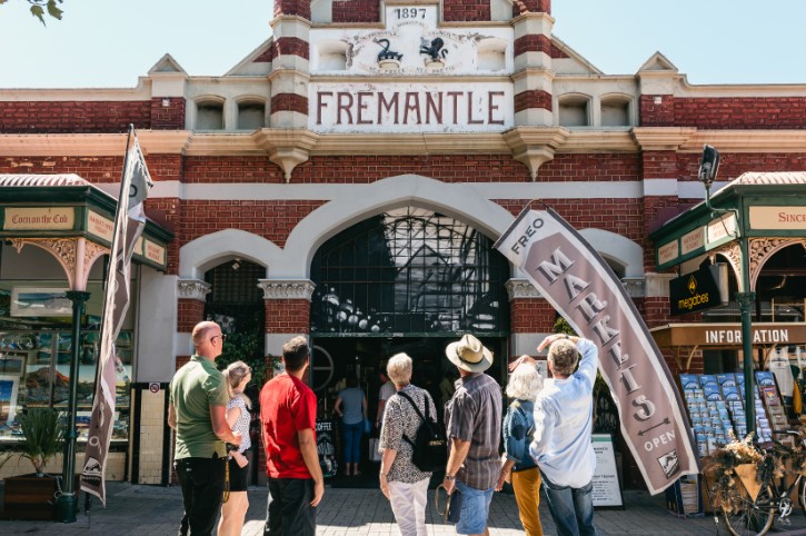
[[[302,383],[310,349],[305,337],[282,347],[286,371],[260,390],[269,498],[267,536],[315,536],[325,479],[316,448],[316,395]]]

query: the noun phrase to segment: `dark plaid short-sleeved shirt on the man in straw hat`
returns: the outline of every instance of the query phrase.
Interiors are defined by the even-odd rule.
[[[445,407],[448,437],[470,441],[456,479],[476,489],[489,489],[498,482],[501,464],[501,388],[486,374],[472,374],[456,381],[456,393]]]

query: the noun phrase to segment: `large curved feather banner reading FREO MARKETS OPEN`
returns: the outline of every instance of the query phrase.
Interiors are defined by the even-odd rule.
[[[554,210],[528,207],[495,247],[528,277],[580,336],[599,349],[621,434],[655,495],[699,472],[671,375],[621,281]]]

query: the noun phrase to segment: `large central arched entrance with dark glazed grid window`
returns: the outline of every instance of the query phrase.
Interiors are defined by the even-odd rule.
[[[495,353],[489,374],[506,378],[509,262],[462,221],[416,207],[386,211],[327,240],[310,274],[311,385],[320,398],[332,397],[352,375],[372,415],[381,361],[406,351],[415,361],[414,383],[439,405],[439,384],[452,369],[445,347],[464,332]],[[317,348],[330,356],[331,371]]]

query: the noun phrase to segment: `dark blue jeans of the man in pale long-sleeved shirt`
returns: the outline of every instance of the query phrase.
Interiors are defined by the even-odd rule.
[[[596,536],[593,480],[575,488],[558,486],[543,475],[543,490],[559,536]]]

